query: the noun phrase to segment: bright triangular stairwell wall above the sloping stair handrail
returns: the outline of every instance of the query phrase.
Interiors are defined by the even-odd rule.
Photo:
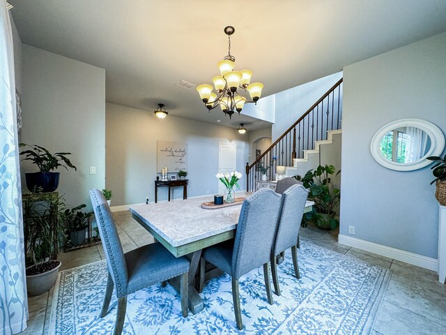
[[[341,72],[334,73],[275,94],[275,124],[272,125],[272,141],[277,140],[341,77]]]

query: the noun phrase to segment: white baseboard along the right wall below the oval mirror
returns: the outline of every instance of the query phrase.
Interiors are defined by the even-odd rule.
[[[424,269],[438,272],[438,260],[435,258],[429,258],[416,253],[409,253],[408,251],[364,241],[363,239],[355,239],[354,237],[343,234],[338,235],[337,241],[346,246],[353,246],[354,248],[369,251],[369,253],[376,253],[377,255],[393,258],[394,260],[399,260],[401,262],[417,265],[417,267],[423,267]]]

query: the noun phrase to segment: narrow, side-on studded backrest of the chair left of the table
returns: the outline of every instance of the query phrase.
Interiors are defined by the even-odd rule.
[[[114,224],[112,211],[110,211],[104,195],[98,189],[90,190],[90,199],[95,212],[96,223],[98,223],[102,247],[105,251],[107,269],[112,276],[116,295],[117,297],[124,297],[127,295],[127,265],[125,264],[123,247]]]

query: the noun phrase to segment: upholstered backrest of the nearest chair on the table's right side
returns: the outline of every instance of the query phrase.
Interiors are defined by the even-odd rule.
[[[270,188],[262,188],[243,202],[233,248],[233,277],[269,262],[280,198]]]

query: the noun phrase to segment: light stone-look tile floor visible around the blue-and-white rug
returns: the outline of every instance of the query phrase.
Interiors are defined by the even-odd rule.
[[[128,211],[114,213],[124,252],[153,242]],[[325,232],[307,227],[300,230],[302,240],[344,253],[372,265],[392,269],[373,335],[446,334],[446,285],[438,283],[435,272],[408,265],[391,258],[367,253],[337,243],[337,230]],[[102,245],[61,253],[61,270],[104,259]],[[29,327],[21,334],[47,334],[53,290],[29,298]],[[70,335],[70,334],[64,334]]]

